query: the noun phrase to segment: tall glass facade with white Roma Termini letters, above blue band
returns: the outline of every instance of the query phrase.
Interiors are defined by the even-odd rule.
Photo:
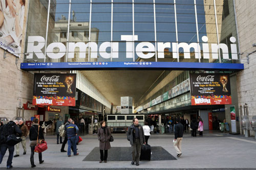
[[[38,62],[237,62],[231,45],[237,45],[231,0],[29,4],[25,51]]]

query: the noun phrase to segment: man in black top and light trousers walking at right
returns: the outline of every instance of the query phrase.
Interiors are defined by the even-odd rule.
[[[181,156],[181,141],[183,138],[184,126],[180,123],[180,118],[176,118],[176,125],[175,125],[175,138],[174,138],[174,148],[177,152],[177,157]]]

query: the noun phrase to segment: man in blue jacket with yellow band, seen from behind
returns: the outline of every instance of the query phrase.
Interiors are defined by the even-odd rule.
[[[73,148],[74,155],[79,155],[76,151],[76,136],[78,134],[78,127],[75,125],[74,120],[70,122],[70,125],[66,127],[68,136],[68,157],[71,157],[71,147]]]

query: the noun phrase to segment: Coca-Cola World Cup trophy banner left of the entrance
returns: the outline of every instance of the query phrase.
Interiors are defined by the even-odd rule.
[[[75,106],[76,74],[35,74],[33,105]]]

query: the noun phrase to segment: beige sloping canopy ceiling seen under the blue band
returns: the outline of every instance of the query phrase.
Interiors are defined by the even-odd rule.
[[[121,96],[133,97],[133,105],[159,78],[163,70],[84,70],[82,74],[115,106]]]

